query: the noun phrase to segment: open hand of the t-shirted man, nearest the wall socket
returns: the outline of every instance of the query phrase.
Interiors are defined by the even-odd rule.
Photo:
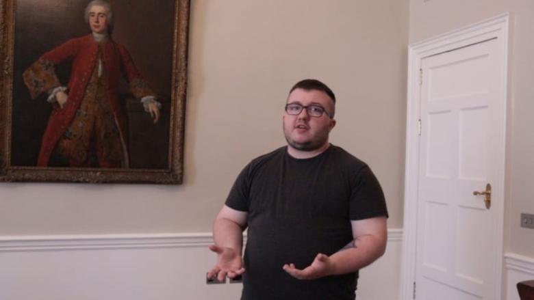
[[[217,254],[217,263],[207,273],[208,278],[216,275],[217,279],[222,282],[226,276],[234,278],[244,273],[243,260],[239,251],[228,247],[218,247],[217,245],[211,245],[209,249]]]

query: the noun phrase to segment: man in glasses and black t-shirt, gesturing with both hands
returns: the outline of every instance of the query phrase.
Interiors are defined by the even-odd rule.
[[[382,189],[368,165],[329,144],[334,111],[327,85],[296,83],[283,115],[288,146],[242,170],[214,221],[207,276],[242,275],[242,299],[355,299],[358,270],[385,251]]]

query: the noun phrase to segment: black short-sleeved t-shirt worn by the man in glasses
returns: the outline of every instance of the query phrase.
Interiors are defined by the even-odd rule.
[[[354,299],[356,273],[299,280],[303,269],[353,240],[351,220],[387,217],[384,195],[366,163],[331,145],[311,159],[287,146],[246,165],[226,205],[248,213],[242,299]]]

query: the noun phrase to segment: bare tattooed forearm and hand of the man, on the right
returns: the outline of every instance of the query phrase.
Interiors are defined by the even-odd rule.
[[[285,264],[283,269],[298,279],[316,279],[329,275],[355,272],[366,267],[384,254],[387,242],[386,217],[373,217],[351,221],[354,241],[340,251],[327,256],[317,254],[309,267],[296,269],[294,264]]]

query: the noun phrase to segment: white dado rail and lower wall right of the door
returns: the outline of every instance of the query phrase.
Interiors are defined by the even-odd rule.
[[[506,300],[520,300],[517,284],[534,280],[534,258],[519,254],[505,254]]]

